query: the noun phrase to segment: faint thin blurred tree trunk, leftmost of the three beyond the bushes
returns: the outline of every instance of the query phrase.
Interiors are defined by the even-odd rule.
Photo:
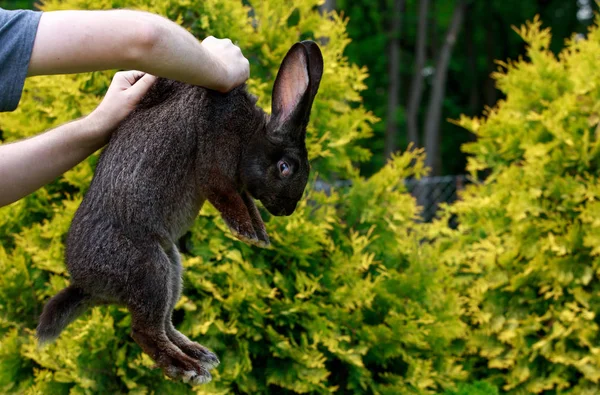
[[[396,111],[398,110],[398,101],[400,97],[400,34],[402,31],[402,11],[405,0],[394,0],[394,11],[392,14],[392,23],[390,26],[390,46],[389,46],[389,68],[388,76],[390,82],[388,85],[388,103],[387,103],[387,123],[385,128],[385,146],[384,155],[389,158],[396,151],[396,137],[398,135],[398,122]]]

